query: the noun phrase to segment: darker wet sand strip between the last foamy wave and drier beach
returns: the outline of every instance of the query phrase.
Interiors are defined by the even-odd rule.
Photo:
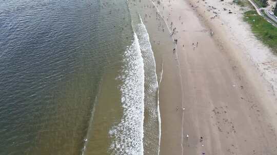
[[[148,6],[147,6],[148,5]],[[153,8],[153,4],[149,0],[142,0],[141,3],[136,2],[133,3],[129,2],[131,16],[134,17],[133,20],[137,20],[138,14],[140,14],[143,23],[146,26],[147,32],[149,34],[150,43],[152,46],[154,59],[155,59],[155,66],[156,66],[156,75],[157,75],[157,82],[160,82],[161,85],[166,84],[165,89],[161,89],[161,85],[158,87],[159,89],[159,103],[157,102],[156,107],[160,108],[160,116],[161,116],[161,141],[160,141],[160,151],[166,149],[167,146],[170,146],[172,150],[177,149],[181,143],[181,139],[178,135],[172,136],[171,133],[175,131],[175,128],[172,128],[171,125],[177,126],[177,128],[181,128],[181,119],[174,119],[173,113],[166,113],[166,110],[171,109],[172,100],[174,100],[174,107],[179,106],[181,107],[180,99],[180,77],[177,74],[177,63],[175,61],[175,55],[172,55],[172,49],[174,47],[173,40],[170,37],[169,30],[166,29],[166,23],[161,19],[160,15],[157,15],[156,8]],[[162,31],[162,26],[160,29],[158,25],[162,25],[165,29],[164,32]],[[158,28],[158,29],[157,29]],[[162,68],[163,67],[163,68]],[[166,74],[166,76],[162,76]],[[168,76],[170,75],[170,76]],[[175,83],[177,81],[177,83]],[[172,85],[173,84],[173,85]],[[168,93],[168,90],[172,91]],[[176,92],[176,93],[173,93]],[[166,94],[166,95],[165,95]],[[163,105],[163,106],[162,106]],[[167,106],[166,106],[167,105]],[[172,109],[175,111],[175,108]],[[159,110],[158,113],[159,114]],[[166,115],[166,116],[165,116]],[[164,118],[171,118],[171,120],[166,120]],[[159,118],[158,118],[159,119]],[[157,126],[159,128],[159,126]],[[144,131],[145,132],[145,131]],[[179,132],[180,133],[180,132]],[[144,133],[147,135],[147,133]],[[164,136],[166,135],[166,136]],[[164,137],[170,138],[171,144],[164,144]],[[148,137],[149,138],[149,137]],[[154,138],[154,137],[153,137]],[[156,137],[157,138],[157,137]],[[146,140],[146,139],[145,139]],[[147,140],[144,141],[144,153],[151,154],[152,150],[149,148]],[[151,144],[152,145],[152,144]]]

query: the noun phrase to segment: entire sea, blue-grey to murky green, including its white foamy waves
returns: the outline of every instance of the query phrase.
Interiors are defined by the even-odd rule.
[[[0,154],[159,154],[155,60],[125,0],[0,3]]]

